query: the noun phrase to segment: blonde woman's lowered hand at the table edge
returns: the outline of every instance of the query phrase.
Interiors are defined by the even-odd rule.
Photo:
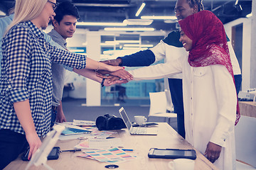
[[[41,146],[42,142],[36,132],[32,134],[26,134],[26,140],[28,141],[29,145],[28,160],[30,160],[32,155]]]

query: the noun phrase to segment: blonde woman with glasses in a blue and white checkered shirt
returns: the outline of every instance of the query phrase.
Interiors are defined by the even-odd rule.
[[[3,38],[0,81],[0,169],[28,145],[28,158],[50,130],[51,62],[77,69],[122,69],[59,50],[43,37],[55,16],[55,0],[16,0],[15,16]]]

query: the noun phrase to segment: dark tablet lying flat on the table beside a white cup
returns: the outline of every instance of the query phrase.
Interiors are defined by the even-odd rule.
[[[164,159],[196,159],[196,151],[194,149],[149,149],[149,158],[164,158]]]

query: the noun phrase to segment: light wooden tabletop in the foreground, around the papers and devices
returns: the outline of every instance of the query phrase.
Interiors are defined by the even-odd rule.
[[[114,137],[120,137],[125,148],[134,149],[134,152],[130,154],[137,156],[137,159],[133,159],[128,162],[116,163],[119,168],[117,170],[165,170],[168,168],[168,162],[172,159],[150,159],[147,154],[151,147],[158,148],[176,148],[176,149],[194,149],[186,140],[183,139],[178,133],[171,128],[167,123],[159,123],[158,135],[129,135],[128,130],[117,130],[118,134]],[[65,140],[58,141],[56,146],[60,146],[61,149],[72,149],[77,145],[80,140]],[[86,170],[97,170],[106,169],[105,165],[109,163],[97,162],[95,160],[86,159],[82,157],[76,157],[82,152],[63,152],[60,153],[58,160],[50,160],[47,162],[48,166],[58,170],[69,170],[69,169],[86,169]],[[217,169],[212,163],[203,157],[199,152],[196,152],[197,159],[195,162],[196,170],[208,170]],[[25,169],[28,162],[21,161],[18,157],[14,162],[11,162],[9,166],[6,166],[5,170],[8,169]],[[46,169],[43,166],[33,166],[31,169]]]

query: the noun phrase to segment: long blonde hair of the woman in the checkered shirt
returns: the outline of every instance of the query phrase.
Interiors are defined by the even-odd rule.
[[[16,0],[14,8],[14,21],[6,29],[6,33],[17,23],[31,21],[43,11],[47,0]]]

